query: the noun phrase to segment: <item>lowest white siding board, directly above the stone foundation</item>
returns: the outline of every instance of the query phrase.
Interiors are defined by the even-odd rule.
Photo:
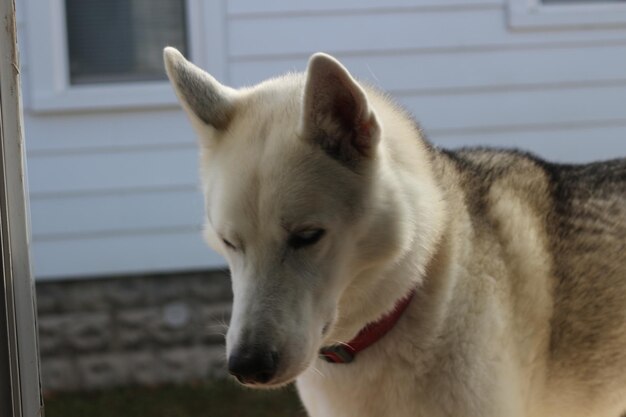
[[[41,241],[32,244],[37,279],[224,267],[200,231]]]

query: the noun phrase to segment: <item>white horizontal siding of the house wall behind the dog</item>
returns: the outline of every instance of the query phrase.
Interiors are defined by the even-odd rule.
[[[217,39],[235,86],[326,51],[391,92],[439,145],[563,162],[626,155],[624,26],[511,30],[505,0],[227,5]],[[27,62],[22,71],[27,84]],[[223,263],[201,241],[195,138],[177,108],[27,110],[26,136],[39,278]]]

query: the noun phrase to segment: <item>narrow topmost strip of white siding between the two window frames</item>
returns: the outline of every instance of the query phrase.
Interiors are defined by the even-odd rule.
[[[227,2],[228,14],[233,17],[249,14],[267,13],[319,13],[341,10],[380,10],[381,8],[412,7],[467,7],[471,5],[500,6],[503,0],[230,0]]]

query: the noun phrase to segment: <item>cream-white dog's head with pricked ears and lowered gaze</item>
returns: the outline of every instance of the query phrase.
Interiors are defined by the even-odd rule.
[[[290,382],[332,340],[354,277],[407,244],[377,190],[380,121],[328,55],[241,90],[173,48],[165,62],[200,136],[206,239],[231,270],[229,369],[250,385]]]

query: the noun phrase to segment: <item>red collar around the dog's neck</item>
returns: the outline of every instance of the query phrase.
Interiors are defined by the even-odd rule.
[[[331,363],[352,362],[357,353],[367,349],[369,346],[382,339],[382,337],[396,325],[414,295],[415,290],[398,300],[391,312],[382,316],[378,321],[366,325],[361,329],[359,334],[348,343],[322,347],[319,352],[320,358]]]

